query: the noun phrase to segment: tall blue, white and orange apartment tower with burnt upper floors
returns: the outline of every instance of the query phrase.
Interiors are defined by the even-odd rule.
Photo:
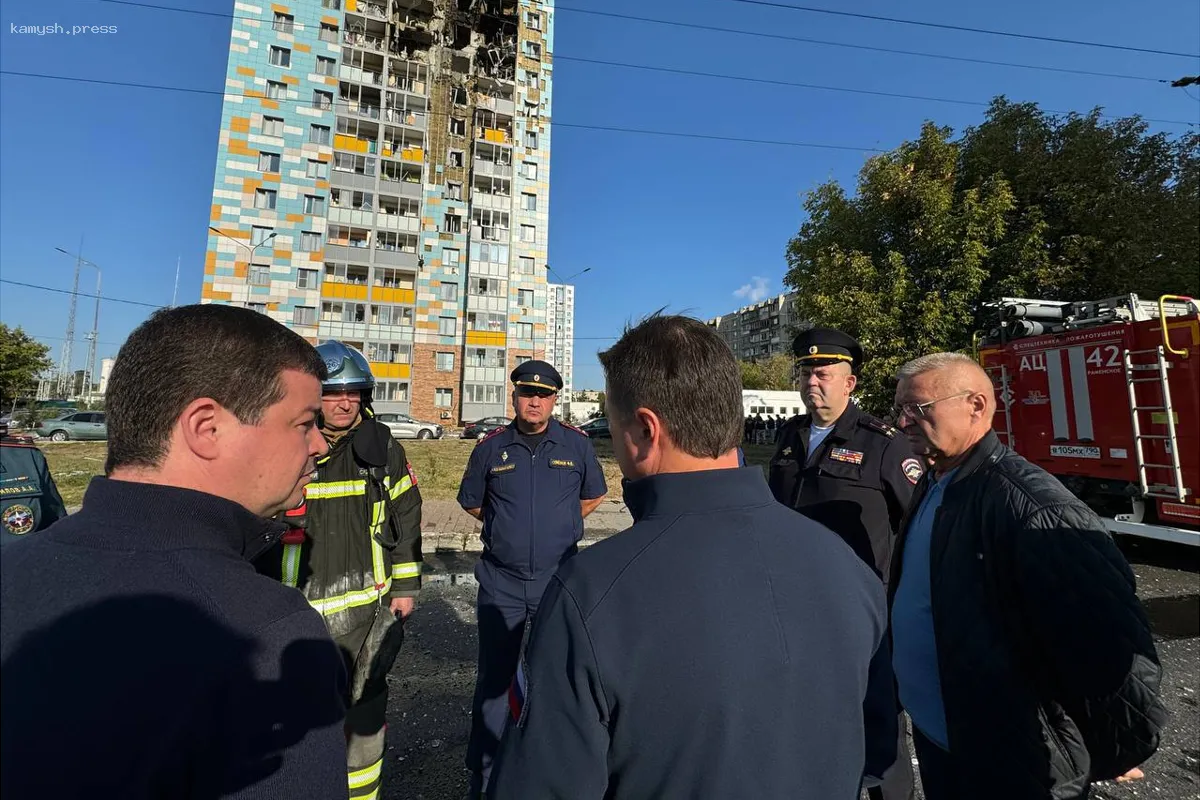
[[[234,4],[204,302],[372,363],[379,410],[504,415],[547,350],[552,0]]]

